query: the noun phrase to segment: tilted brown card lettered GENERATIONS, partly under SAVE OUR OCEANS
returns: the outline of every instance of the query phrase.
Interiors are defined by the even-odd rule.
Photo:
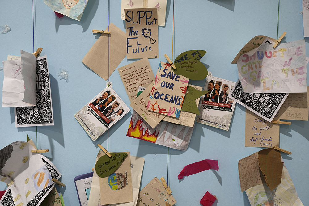
[[[165,117],[147,109],[148,99],[151,95],[153,83],[151,83],[138,97],[130,104],[130,106],[143,118],[152,128],[155,128]]]

